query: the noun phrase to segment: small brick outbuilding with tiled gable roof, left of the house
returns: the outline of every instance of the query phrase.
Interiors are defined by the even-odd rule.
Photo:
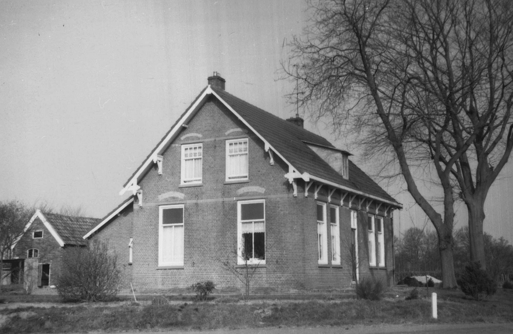
[[[55,285],[64,249],[86,246],[83,236],[100,221],[36,210],[25,233],[12,246],[12,261],[24,268],[25,285]]]

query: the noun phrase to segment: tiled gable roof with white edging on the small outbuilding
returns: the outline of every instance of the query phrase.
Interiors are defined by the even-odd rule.
[[[28,231],[36,218],[39,218],[43,222],[50,234],[61,247],[64,247],[65,245],[86,245],[87,241],[85,241],[82,236],[86,234],[92,226],[100,222],[100,219],[97,218],[43,213],[38,209],[32,218],[30,218],[27,225],[25,225],[24,233]],[[21,239],[21,237],[14,242],[11,248],[14,248],[19,239]]]

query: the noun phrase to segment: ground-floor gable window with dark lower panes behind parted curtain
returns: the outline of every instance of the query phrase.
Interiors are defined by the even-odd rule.
[[[238,264],[265,264],[265,200],[237,203]]]

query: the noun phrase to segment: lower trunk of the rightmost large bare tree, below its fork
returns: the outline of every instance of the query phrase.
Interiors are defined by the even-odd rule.
[[[470,261],[479,262],[482,269],[486,269],[484,256],[483,222],[484,200],[476,194],[473,200],[467,202],[468,237],[470,242]]]

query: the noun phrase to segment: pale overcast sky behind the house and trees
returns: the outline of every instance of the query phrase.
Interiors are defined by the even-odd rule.
[[[218,71],[226,90],[293,116],[279,80],[304,3],[0,0],[0,200],[82,206],[101,218],[124,182]],[[330,137],[324,126],[308,130]],[[358,148],[336,144],[360,167]],[[513,240],[513,168],[487,201],[485,231]],[[388,190],[410,208],[400,186]],[[416,210],[396,229],[423,226]],[[464,208],[458,210],[466,223]]]

